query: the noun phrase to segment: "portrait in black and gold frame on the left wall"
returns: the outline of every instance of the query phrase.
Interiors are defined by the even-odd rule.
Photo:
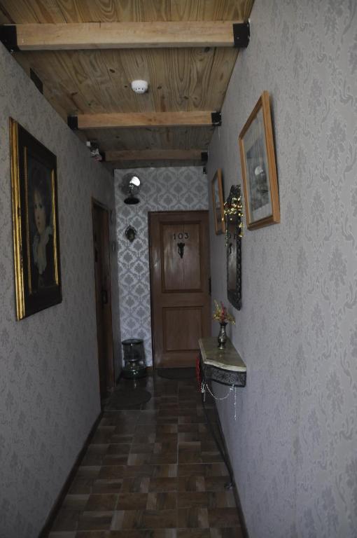
[[[57,215],[57,160],[10,118],[16,314],[62,301]]]

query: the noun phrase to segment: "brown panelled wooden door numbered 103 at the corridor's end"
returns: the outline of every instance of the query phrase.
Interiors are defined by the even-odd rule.
[[[149,214],[155,368],[195,366],[209,336],[208,212]]]

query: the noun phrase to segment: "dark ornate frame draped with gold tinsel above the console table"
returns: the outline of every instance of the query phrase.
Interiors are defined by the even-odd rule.
[[[241,189],[232,185],[225,202],[225,243],[227,247],[227,296],[237,310],[241,309]]]

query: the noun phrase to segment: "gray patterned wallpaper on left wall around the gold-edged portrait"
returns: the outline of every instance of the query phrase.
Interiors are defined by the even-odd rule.
[[[113,180],[2,45],[0,74],[0,537],[35,538],[100,411],[91,197],[111,207]],[[58,171],[63,301],[20,322],[9,116],[57,155]],[[112,281],[118,305],[116,259]]]

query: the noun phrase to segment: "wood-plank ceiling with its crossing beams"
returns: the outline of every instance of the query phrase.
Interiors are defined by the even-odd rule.
[[[0,0],[14,57],[114,168],[200,165],[253,0]],[[134,79],[148,81],[137,95]]]

